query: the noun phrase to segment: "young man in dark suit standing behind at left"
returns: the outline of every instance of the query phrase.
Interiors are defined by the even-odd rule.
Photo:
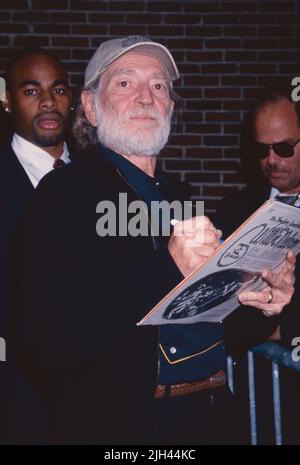
[[[38,182],[54,166],[70,161],[64,139],[71,94],[58,58],[39,48],[15,55],[6,87],[2,106],[14,133],[0,150],[0,336],[6,342],[6,361],[0,366],[0,442],[35,443],[43,440],[45,413],[36,391],[15,368],[9,329],[12,250],[17,221]]]

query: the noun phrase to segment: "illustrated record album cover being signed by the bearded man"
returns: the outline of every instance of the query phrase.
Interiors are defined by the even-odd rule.
[[[300,209],[268,200],[137,324],[222,321],[239,292],[267,286],[261,271],[278,273],[289,249],[300,251]]]

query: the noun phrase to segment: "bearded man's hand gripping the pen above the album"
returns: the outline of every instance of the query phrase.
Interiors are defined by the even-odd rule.
[[[221,235],[206,216],[195,216],[175,224],[168,248],[183,276],[191,274],[214,253]]]

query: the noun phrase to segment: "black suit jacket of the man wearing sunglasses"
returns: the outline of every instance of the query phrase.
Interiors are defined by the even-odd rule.
[[[215,224],[228,237],[270,196],[271,186],[267,183],[248,186],[224,199],[216,213]],[[290,346],[293,337],[300,335],[300,265],[296,264],[296,291],[293,300],[280,317],[269,319],[256,310],[239,308],[225,320],[227,345],[231,350],[239,350],[249,345],[263,342],[280,324],[282,342]]]

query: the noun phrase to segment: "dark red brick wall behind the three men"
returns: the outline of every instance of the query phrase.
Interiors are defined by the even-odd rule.
[[[50,47],[80,86],[102,40],[146,34],[178,63],[184,97],[165,168],[194,186],[207,211],[244,181],[240,124],[273,75],[300,75],[300,1],[0,0],[0,73],[19,47]]]

